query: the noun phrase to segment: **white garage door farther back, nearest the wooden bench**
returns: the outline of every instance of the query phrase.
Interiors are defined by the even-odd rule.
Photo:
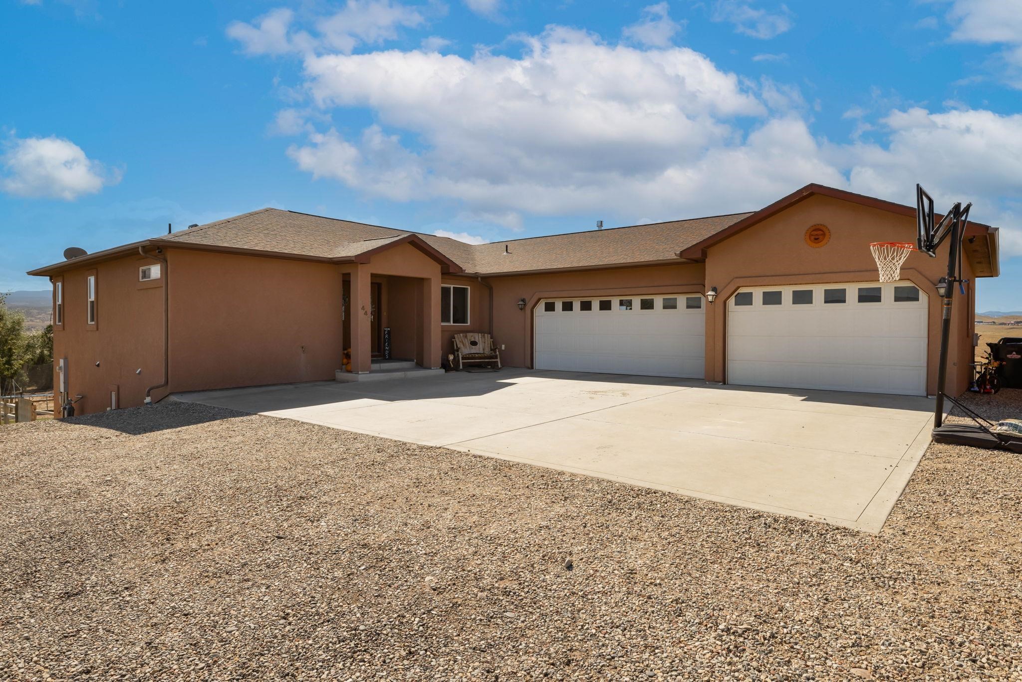
[[[536,368],[701,378],[704,320],[691,293],[547,299],[536,308]]]

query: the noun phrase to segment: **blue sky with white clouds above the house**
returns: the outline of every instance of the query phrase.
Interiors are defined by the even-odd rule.
[[[1022,0],[15,0],[0,63],[0,289],[266,206],[489,241],[918,181],[1022,309]]]

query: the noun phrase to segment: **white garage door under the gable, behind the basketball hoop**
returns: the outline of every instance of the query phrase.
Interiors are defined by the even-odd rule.
[[[743,288],[728,302],[728,382],[922,396],[927,297],[911,282]]]

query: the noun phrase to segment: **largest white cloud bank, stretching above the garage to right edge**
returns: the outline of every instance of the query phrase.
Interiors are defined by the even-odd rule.
[[[523,215],[628,223],[754,210],[809,182],[910,203],[923,182],[941,200],[975,201],[977,221],[1019,223],[1022,115],[931,111],[877,91],[845,112],[855,132],[836,143],[814,135],[798,88],[688,48],[558,27],[521,41],[519,55],[308,55],[309,116],[358,108],[377,123],[354,135],[314,127],[288,154],[369,196],[451,201],[444,227],[467,235],[520,229]],[[1015,234],[1003,233],[1008,254],[1022,254]]]

